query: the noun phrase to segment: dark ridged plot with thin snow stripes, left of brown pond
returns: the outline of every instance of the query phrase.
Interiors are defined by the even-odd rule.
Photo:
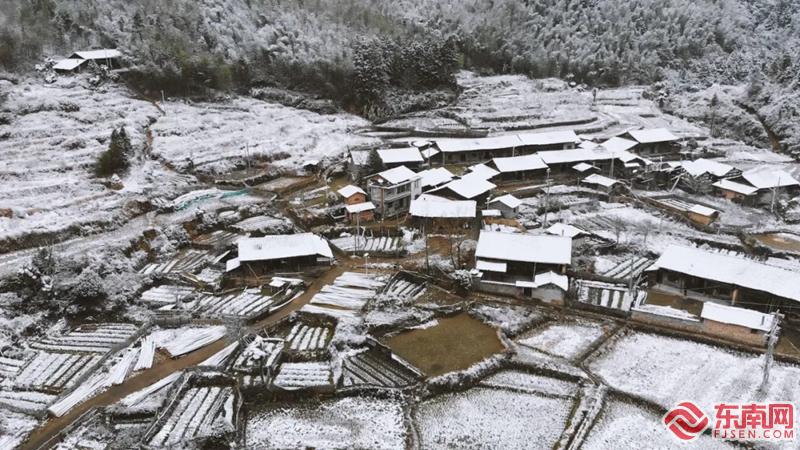
[[[342,385],[399,388],[413,384],[417,374],[393,355],[363,350],[347,355],[342,364]]]

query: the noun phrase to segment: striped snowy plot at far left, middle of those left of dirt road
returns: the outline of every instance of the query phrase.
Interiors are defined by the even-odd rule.
[[[41,351],[25,366],[15,380],[23,389],[61,392],[86,375],[100,361],[98,354],[50,353]]]

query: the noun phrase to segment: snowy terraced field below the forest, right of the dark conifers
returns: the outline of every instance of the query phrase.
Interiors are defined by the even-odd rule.
[[[154,126],[154,153],[182,167],[221,172],[255,158],[280,157],[276,164],[299,168],[306,159],[343,154],[348,146],[374,142],[348,132],[367,122],[347,114],[320,115],[274,103],[236,97],[226,103],[162,105],[166,116]]]

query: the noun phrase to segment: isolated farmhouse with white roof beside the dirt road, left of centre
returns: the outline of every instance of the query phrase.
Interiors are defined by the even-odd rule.
[[[239,256],[227,262],[227,272],[264,275],[276,269],[301,271],[333,261],[328,242],[312,233],[243,238],[237,246]]]

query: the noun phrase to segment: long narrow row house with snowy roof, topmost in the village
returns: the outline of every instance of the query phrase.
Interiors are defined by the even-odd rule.
[[[492,158],[526,155],[543,150],[575,148],[580,142],[574,131],[524,133],[471,139],[440,139],[436,141],[442,164],[466,164]]]

